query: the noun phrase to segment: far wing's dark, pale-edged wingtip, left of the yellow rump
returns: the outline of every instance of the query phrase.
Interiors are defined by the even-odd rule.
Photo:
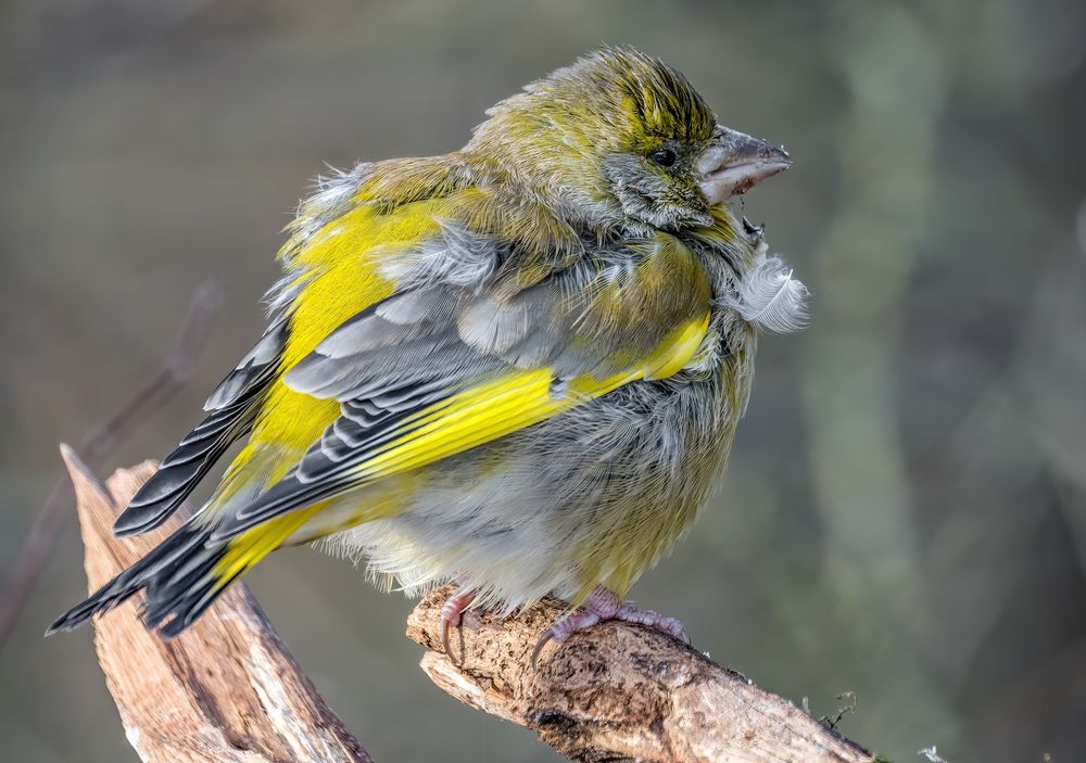
[[[238,367],[216,387],[207,417],[159,465],[117,517],[118,537],[159,526],[189,496],[230,444],[249,432],[264,392],[275,378],[287,341],[287,321],[274,323]]]

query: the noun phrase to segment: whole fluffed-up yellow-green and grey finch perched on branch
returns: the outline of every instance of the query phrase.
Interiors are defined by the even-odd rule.
[[[462,613],[554,595],[550,641],[607,620],[690,530],[747,406],[759,333],[808,292],[734,196],[787,169],[690,81],[605,47],[488,110],[463,149],[318,178],[267,330],[118,516],[146,533],[244,441],[212,497],[50,633],[144,593],[173,637],[272,551],[319,542]]]

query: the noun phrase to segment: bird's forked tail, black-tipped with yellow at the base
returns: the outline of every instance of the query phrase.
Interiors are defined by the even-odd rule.
[[[313,512],[312,509],[292,512],[218,543],[212,541],[215,524],[194,517],[87,600],[58,618],[47,634],[75,628],[146,590],[143,622],[164,636],[176,636],[230,583],[282,545]]]

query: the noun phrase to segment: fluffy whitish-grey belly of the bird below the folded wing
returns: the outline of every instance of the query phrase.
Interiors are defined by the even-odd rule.
[[[501,610],[624,595],[693,521],[734,417],[714,395],[619,392],[416,472],[402,513],[326,546],[411,594],[455,580]]]

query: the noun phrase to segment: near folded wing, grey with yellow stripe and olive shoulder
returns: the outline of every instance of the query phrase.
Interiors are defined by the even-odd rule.
[[[446,245],[469,236],[446,233]],[[481,237],[467,245],[476,259],[493,253],[482,287],[457,283],[455,269],[404,278],[288,370],[288,386],[339,400],[340,416],[287,476],[222,518],[212,543],[671,376],[707,330],[708,283],[670,237],[585,256],[523,289],[503,278],[515,252]]]

